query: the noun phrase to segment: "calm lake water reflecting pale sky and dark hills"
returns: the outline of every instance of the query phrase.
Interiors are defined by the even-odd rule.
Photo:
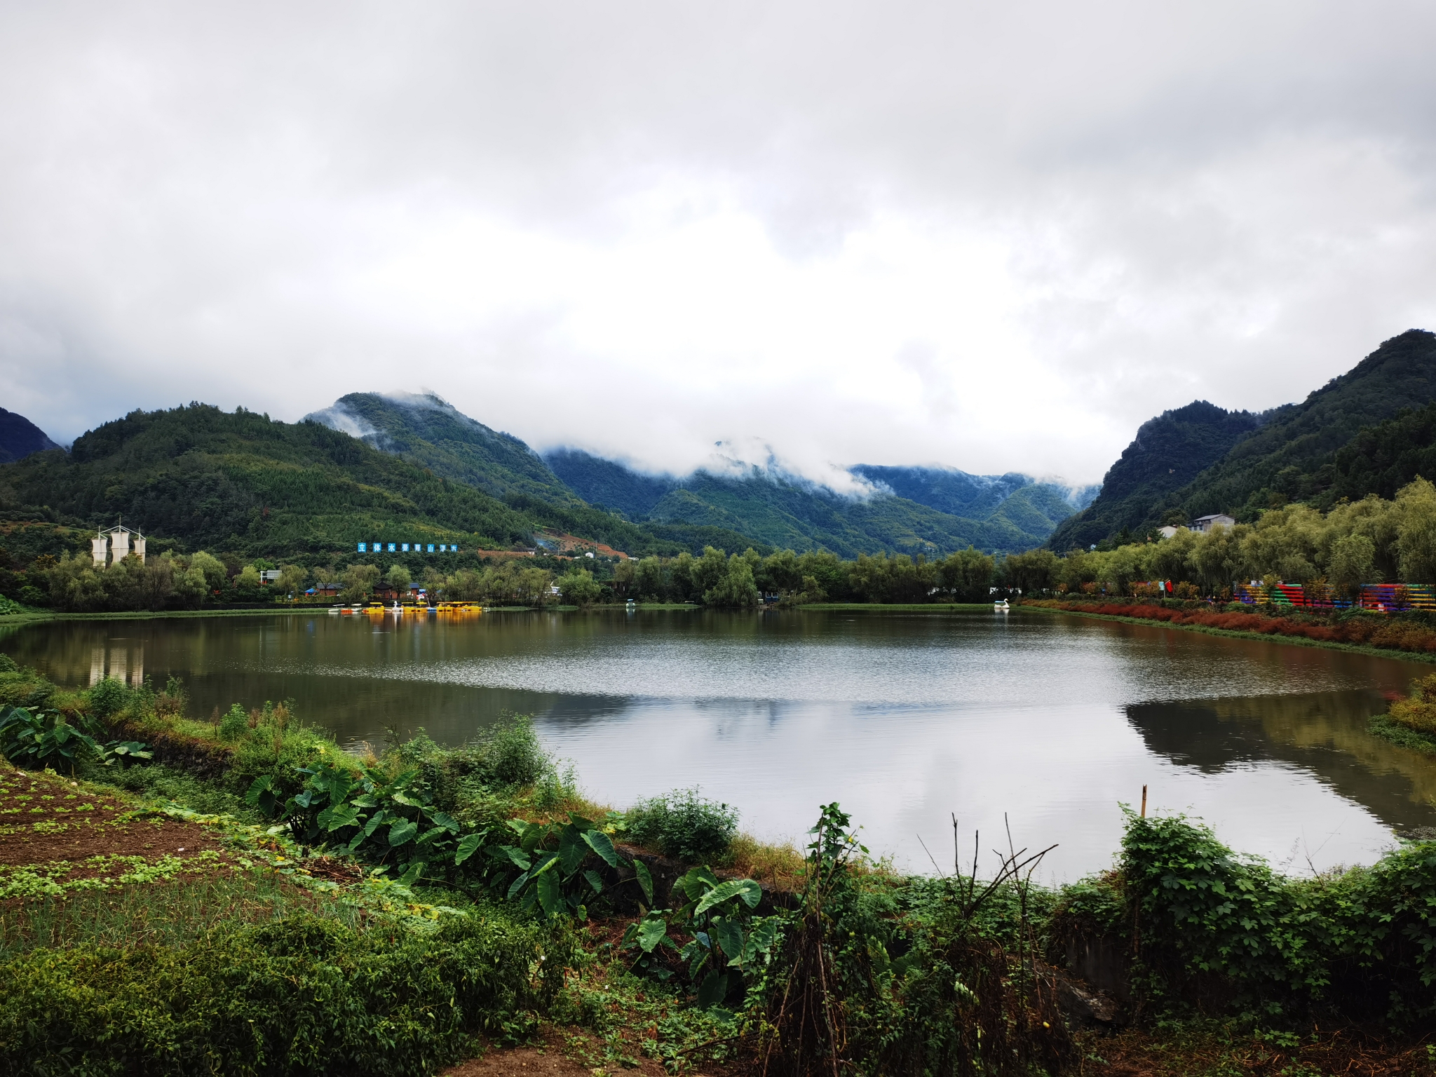
[[[1186,811],[1301,873],[1436,827],[1436,761],[1366,721],[1430,666],[1086,617],[709,610],[274,615],[50,622],[0,651],[63,685],[185,681],[192,711],[293,699],[343,742],[460,744],[531,714],[615,806],[675,787],[800,840],[837,800],[902,867],[1060,843],[1045,877],[1111,863],[1119,801]]]

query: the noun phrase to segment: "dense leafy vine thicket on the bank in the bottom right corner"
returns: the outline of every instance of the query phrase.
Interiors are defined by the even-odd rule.
[[[1393,1028],[1436,1015],[1436,843],[1288,879],[1203,826],[1129,814],[1120,877],[1109,919],[1139,932],[1153,1005],[1205,995],[1267,1021],[1334,1012]]]

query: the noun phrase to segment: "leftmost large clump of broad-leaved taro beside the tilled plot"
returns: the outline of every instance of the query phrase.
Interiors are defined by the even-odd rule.
[[[304,844],[342,849],[415,882],[445,877],[484,843],[487,831],[461,834],[458,821],[428,801],[418,770],[389,778],[320,763],[299,773],[304,785],[287,800],[271,774],[256,778],[244,798]]]

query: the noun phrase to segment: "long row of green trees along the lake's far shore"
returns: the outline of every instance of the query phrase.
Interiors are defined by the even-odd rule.
[[[597,556],[478,559],[411,553],[355,561],[313,556],[270,564],[234,554],[161,550],[98,567],[85,553],[23,556],[0,549],[0,595],[29,607],[59,610],[200,609],[273,602],[310,587],[339,602],[406,593],[494,605],[587,606],[626,599],[718,607],[820,602],[979,602],[995,587],[1025,596],[1155,596],[1172,582],[1185,597],[1231,600],[1235,582],[1281,580],[1330,597],[1350,597],[1373,582],[1436,582],[1436,487],[1416,480],[1387,500],[1346,501],[1323,513],[1308,505],[1267,510],[1252,524],[1167,538],[1122,536],[1090,550],[994,557],[978,550],[948,556],[906,553],[843,560],[824,550],[754,549],[642,559]],[[264,572],[279,570],[266,583]],[[557,590],[556,590],[557,589]]]

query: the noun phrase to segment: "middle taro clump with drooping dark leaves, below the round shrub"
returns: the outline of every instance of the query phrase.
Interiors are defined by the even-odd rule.
[[[576,913],[587,918],[587,903],[609,889],[600,869],[607,864],[617,872],[623,866],[613,847],[612,834],[622,817],[605,816],[599,821],[569,813],[566,823],[528,823],[508,820],[513,840],[497,837],[487,850],[488,883],[520,908],[536,905],[546,916]],[[653,879],[640,860],[633,862],[632,880],[649,903],[653,900]]]

